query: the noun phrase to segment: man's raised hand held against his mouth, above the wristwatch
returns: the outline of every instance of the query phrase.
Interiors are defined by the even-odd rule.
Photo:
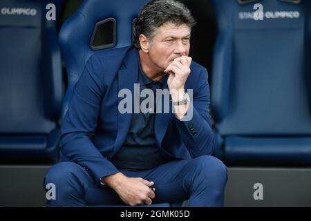
[[[183,95],[185,92],[185,83],[190,74],[191,57],[181,56],[173,60],[171,64],[164,70],[165,73],[169,73],[169,79],[167,84],[169,86],[169,91],[171,93],[172,99],[178,101],[183,97],[178,95]]]

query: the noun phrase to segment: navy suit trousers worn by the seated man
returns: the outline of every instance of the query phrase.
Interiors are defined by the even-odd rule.
[[[193,159],[175,160],[145,171],[120,170],[128,177],[142,177],[154,182],[153,204],[182,202],[188,206],[223,206],[227,168],[216,157],[202,155]],[[100,182],[100,181],[99,181]],[[124,205],[109,186],[95,184],[91,175],[79,164],[59,162],[44,178],[44,186],[56,186],[56,199],[46,206]]]

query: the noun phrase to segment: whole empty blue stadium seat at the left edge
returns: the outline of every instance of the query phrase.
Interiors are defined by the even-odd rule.
[[[62,1],[0,1],[0,162],[57,162],[62,63],[55,21]]]

